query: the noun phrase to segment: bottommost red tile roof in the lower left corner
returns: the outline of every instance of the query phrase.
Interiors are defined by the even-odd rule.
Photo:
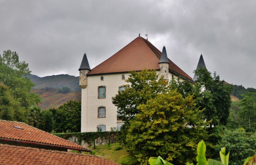
[[[117,165],[99,156],[0,144],[0,164]]]

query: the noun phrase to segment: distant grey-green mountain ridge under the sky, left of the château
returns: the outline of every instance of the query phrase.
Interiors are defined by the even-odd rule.
[[[79,76],[70,76],[68,74],[59,74],[53,76],[46,77],[38,77],[36,75],[28,75],[28,78],[35,83],[36,85],[33,87],[34,89],[41,88],[62,88],[69,87],[70,90],[79,92],[81,88],[79,87]]]

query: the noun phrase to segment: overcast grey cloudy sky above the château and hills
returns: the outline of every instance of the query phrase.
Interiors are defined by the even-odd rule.
[[[79,76],[139,33],[193,78],[203,54],[221,79],[256,88],[256,1],[0,0],[0,54],[19,53],[32,74]]]

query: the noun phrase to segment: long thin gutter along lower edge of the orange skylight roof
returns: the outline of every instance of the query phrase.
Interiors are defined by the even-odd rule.
[[[43,146],[56,147],[56,148],[65,148],[65,149],[77,150],[77,151],[86,151],[86,152],[91,152],[92,151],[92,150],[82,149],[82,148],[75,148],[75,147],[68,147],[68,146],[61,146],[61,145],[53,145],[53,144],[45,144],[45,143],[37,143],[37,142],[28,142],[28,141],[21,141],[21,140],[8,139],[8,138],[0,138],[0,140],[8,141],[8,142],[18,142],[18,143],[24,143],[24,144],[43,145]]]

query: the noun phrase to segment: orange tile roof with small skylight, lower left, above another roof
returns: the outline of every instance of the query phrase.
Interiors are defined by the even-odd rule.
[[[20,143],[46,145],[79,151],[90,151],[81,145],[69,142],[63,138],[31,127],[25,123],[15,121],[0,120],[0,140],[15,140],[16,142]]]

